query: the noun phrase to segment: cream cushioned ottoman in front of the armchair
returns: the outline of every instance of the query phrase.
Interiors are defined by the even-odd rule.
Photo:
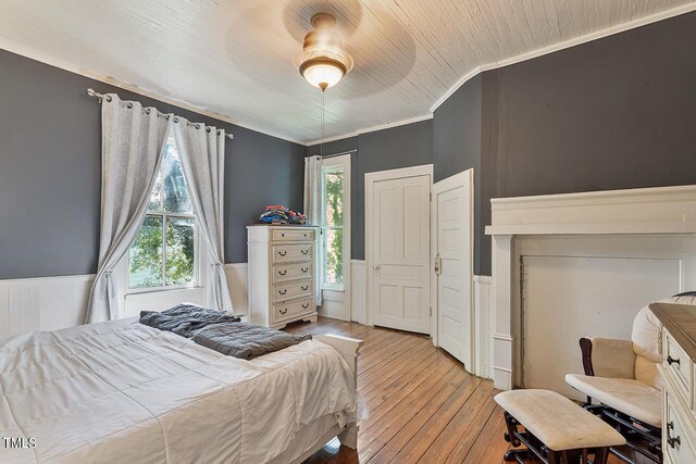
[[[548,464],[570,464],[588,462],[593,455],[594,464],[605,464],[609,447],[626,442],[604,421],[554,391],[504,391],[495,400],[505,410],[506,440],[513,447],[526,446],[509,450],[506,461],[536,457]]]

